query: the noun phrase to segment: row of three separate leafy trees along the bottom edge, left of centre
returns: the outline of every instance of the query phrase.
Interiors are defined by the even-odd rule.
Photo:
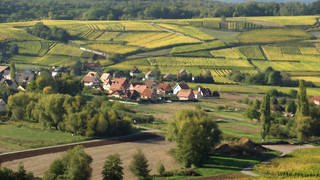
[[[81,146],[77,146],[67,151],[62,158],[55,160],[46,171],[43,179],[88,180],[92,173],[91,163],[92,158],[84,152]],[[134,154],[130,171],[139,179],[150,178],[148,160],[141,150]],[[123,179],[124,172],[119,154],[107,156],[101,174],[103,180]]]

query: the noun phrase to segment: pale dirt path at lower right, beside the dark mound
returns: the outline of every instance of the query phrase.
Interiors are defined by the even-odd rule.
[[[263,147],[274,150],[274,151],[279,151],[281,152],[281,157],[285,156],[289,153],[292,153],[293,151],[299,150],[299,149],[307,149],[307,148],[313,148],[313,145],[310,144],[305,144],[305,145],[291,145],[291,144],[279,144],[279,145],[263,145]],[[270,161],[270,160],[269,160]],[[269,162],[266,161],[266,162]],[[266,162],[261,162],[261,163],[266,163]],[[260,176],[259,174],[253,172],[253,166],[244,168],[241,171],[242,174],[252,176],[252,177],[258,177]]]

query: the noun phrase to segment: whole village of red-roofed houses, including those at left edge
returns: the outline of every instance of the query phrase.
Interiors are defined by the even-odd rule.
[[[99,65],[87,63],[87,73],[81,77],[81,84],[86,89],[103,92],[111,100],[127,102],[172,102],[172,101],[197,101],[201,98],[218,98],[219,92],[209,88],[197,87],[196,89],[184,81],[178,81],[177,77],[189,76],[189,73],[181,69],[177,75],[166,74],[162,77],[159,72],[148,71],[143,74],[134,67],[128,75],[116,75],[116,72],[101,72]],[[52,67],[49,72],[53,78],[70,73],[66,67]],[[10,87],[13,91],[26,91],[27,85],[36,79],[41,71],[15,70],[15,79],[10,76],[10,67],[0,66],[1,84]],[[119,74],[119,73],[118,73]],[[3,104],[5,101],[2,100]]]

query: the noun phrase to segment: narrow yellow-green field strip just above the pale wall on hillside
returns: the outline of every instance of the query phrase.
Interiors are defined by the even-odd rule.
[[[121,44],[89,44],[87,47],[111,54],[128,54],[139,50],[138,47],[124,46]]]

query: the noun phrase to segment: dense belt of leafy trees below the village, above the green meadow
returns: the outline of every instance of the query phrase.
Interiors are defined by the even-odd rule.
[[[113,136],[132,130],[132,116],[125,113],[128,110],[104,97],[87,100],[63,94],[17,93],[9,97],[8,107],[13,120],[79,135]]]

